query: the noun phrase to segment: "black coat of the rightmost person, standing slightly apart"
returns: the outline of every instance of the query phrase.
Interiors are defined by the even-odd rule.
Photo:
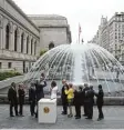
[[[99,93],[95,93],[95,96],[96,96],[96,104],[99,106],[99,107],[101,107],[101,106],[103,106],[103,103],[104,103],[104,92],[103,92],[103,90],[101,89],[101,90],[99,90]]]

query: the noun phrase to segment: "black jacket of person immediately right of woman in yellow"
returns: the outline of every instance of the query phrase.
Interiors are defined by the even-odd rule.
[[[74,92],[73,103],[74,106],[82,106],[82,91]]]

